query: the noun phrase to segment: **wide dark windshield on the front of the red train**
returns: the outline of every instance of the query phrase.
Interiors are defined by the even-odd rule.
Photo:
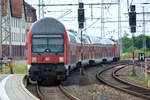
[[[64,39],[61,35],[33,35],[32,53],[62,54],[64,52]]]

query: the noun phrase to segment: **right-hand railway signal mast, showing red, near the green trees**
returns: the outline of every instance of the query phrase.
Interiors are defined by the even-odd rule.
[[[132,60],[133,60],[133,75],[136,75],[135,68],[134,68],[134,33],[136,32],[136,11],[135,11],[135,5],[130,6],[130,12],[129,12],[129,26],[132,33]]]

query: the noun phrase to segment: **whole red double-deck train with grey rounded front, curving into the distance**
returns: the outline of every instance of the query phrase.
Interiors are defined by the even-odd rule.
[[[35,22],[28,33],[28,75],[33,81],[64,80],[82,65],[120,59],[120,46],[109,39],[67,32],[54,18]],[[81,53],[82,51],[82,53]]]

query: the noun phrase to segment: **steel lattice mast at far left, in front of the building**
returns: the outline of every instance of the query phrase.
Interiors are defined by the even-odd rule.
[[[1,29],[2,29],[2,35],[1,35],[1,46],[4,44],[4,47],[2,47],[2,57],[12,59],[12,37],[11,37],[11,8],[10,8],[10,0],[6,2],[4,0],[4,9],[7,9],[6,15],[3,15],[1,17]],[[1,8],[2,9],[2,8]],[[2,11],[1,11],[2,12]],[[2,13],[1,13],[2,14]],[[2,20],[3,18],[3,20]],[[13,68],[10,68],[10,73],[13,74]]]

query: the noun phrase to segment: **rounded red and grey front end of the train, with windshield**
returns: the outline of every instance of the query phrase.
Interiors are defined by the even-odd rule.
[[[64,80],[68,37],[62,23],[44,18],[28,34],[28,74],[34,81]]]

